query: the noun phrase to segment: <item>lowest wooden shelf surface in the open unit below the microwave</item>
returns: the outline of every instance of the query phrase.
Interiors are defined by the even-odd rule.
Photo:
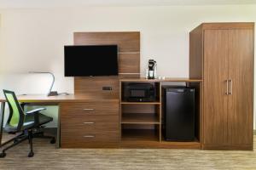
[[[123,129],[122,141],[159,141],[154,129]]]

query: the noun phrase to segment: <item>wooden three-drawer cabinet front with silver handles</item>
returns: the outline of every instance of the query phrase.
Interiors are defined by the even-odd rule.
[[[118,142],[118,100],[61,105],[61,147],[105,147]]]

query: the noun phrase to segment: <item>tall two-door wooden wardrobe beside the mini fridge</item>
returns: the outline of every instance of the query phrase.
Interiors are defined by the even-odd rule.
[[[189,77],[201,78],[201,147],[253,150],[254,23],[204,23],[189,35]]]

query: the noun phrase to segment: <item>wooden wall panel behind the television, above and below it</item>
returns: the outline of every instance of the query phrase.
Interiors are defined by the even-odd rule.
[[[74,77],[75,94],[119,99],[119,78],[140,77],[140,32],[74,32],[73,42],[74,45],[118,45],[119,48],[119,76]],[[103,91],[103,86],[113,89]]]

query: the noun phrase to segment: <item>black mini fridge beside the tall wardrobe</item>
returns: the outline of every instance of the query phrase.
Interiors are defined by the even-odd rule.
[[[164,87],[164,93],[165,139],[195,140],[195,88]]]

